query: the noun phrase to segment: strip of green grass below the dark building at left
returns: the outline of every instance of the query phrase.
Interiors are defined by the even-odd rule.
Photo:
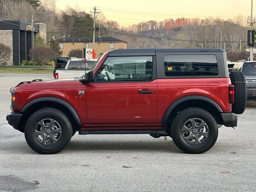
[[[40,70],[37,66],[36,68],[16,68],[16,67],[0,67],[0,73],[38,73],[38,74],[53,74],[53,68],[44,68]]]

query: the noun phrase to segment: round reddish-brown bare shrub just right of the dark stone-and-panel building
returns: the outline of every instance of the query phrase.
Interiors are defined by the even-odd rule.
[[[40,65],[40,69],[42,69],[44,64],[56,60],[56,53],[47,47],[41,46],[36,47],[34,49],[30,49],[29,58],[30,60],[33,60],[34,58],[36,64]]]

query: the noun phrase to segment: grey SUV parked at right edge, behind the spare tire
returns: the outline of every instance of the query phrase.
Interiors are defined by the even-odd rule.
[[[256,61],[240,60],[233,70],[242,72],[246,78],[247,100],[256,100]]]

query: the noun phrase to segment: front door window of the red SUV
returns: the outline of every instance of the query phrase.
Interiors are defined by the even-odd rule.
[[[152,80],[152,56],[108,57],[96,75],[96,82]]]

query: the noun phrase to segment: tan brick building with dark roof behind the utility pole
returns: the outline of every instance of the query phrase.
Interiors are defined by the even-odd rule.
[[[56,40],[60,44],[62,56],[68,56],[72,49],[92,48],[92,37],[67,37]],[[113,37],[95,37],[96,58],[113,49],[126,49],[127,42]]]

